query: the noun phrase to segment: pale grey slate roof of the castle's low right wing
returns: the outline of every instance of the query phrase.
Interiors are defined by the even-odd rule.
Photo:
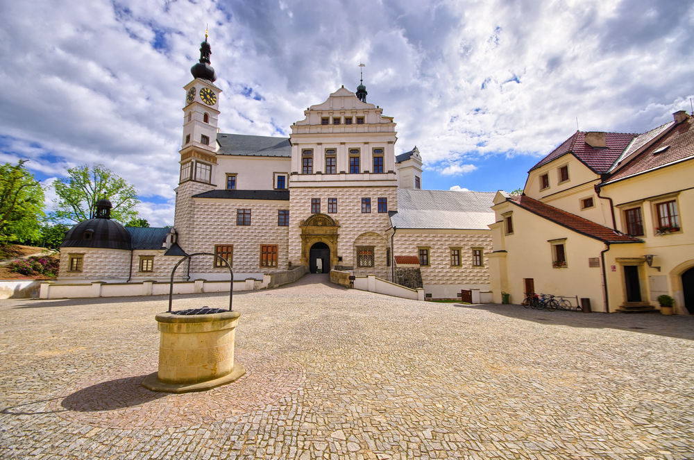
[[[493,191],[398,190],[398,211],[391,212],[396,228],[489,230],[496,217]]]

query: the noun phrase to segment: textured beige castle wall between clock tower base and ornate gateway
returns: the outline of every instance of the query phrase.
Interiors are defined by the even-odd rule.
[[[235,279],[259,278],[262,273],[287,269],[289,227],[277,224],[278,211],[289,209],[289,201],[193,198],[193,202],[191,231],[194,238],[184,247],[186,253],[214,253],[215,245],[233,245]],[[251,210],[251,225],[236,225],[239,209]],[[276,268],[260,266],[263,244],[278,246]],[[194,257],[190,264],[191,277],[228,280],[226,266],[215,268],[213,259],[212,256]]]

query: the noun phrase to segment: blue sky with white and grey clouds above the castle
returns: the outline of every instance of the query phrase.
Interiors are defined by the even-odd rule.
[[[3,1],[0,161],[28,159],[49,209],[67,167],[104,164],[172,225],[205,26],[222,132],[288,137],[363,62],[426,189],[523,187],[577,127],[642,133],[694,97],[689,1]]]

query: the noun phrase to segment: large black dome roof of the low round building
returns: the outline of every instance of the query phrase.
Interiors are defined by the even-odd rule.
[[[110,204],[110,203],[108,203]],[[133,248],[132,237],[126,228],[111,219],[82,221],[65,233],[61,248]]]

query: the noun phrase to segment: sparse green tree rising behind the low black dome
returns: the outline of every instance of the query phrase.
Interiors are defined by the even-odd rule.
[[[69,176],[53,182],[58,198],[54,201],[57,221],[81,222],[94,219],[96,202],[106,198],[111,202],[111,218],[121,223],[137,219],[139,204],[133,185],[117,176],[103,164],[83,164],[68,168]]]

